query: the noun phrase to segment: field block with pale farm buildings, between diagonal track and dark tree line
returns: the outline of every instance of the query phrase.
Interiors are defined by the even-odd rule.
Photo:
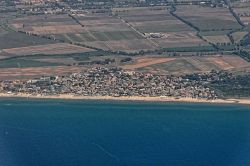
[[[209,46],[197,37],[193,28],[172,16],[166,7],[115,9],[113,12],[158,48]]]

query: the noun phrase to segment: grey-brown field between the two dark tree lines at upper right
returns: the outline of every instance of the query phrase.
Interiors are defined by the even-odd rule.
[[[227,8],[211,8],[194,5],[178,6],[175,13],[201,31],[241,28]]]

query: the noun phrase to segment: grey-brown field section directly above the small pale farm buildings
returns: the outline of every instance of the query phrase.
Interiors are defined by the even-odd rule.
[[[142,33],[192,31],[193,29],[176,19],[165,8],[135,8],[116,12],[123,20]]]

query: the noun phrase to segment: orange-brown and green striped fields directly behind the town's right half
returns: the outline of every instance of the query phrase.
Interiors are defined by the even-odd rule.
[[[142,71],[187,74],[194,72],[209,72],[211,70],[243,70],[249,68],[250,63],[235,55],[223,56],[190,56],[190,57],[141,57],[132,64],[124,65],[125,69]]]

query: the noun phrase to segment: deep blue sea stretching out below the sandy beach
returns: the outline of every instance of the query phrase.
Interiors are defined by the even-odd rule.
[[[249,166],[250,106],[0,98],[0,166]]]

